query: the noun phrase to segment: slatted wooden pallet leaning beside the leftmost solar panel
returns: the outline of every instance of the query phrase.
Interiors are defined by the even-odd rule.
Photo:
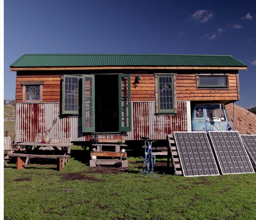
[[[182,169],[180,165],[180,158],[178,156],[178,151],[176,148],[175,140],[173,135],[168,134],[166,136],[168,142],[168,158],[172,158],[172,168],[175,175],[182,175]],[[170,161],[168,161],[167,166],[169,166]]]

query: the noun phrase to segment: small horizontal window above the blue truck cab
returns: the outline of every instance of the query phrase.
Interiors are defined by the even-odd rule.
[[[227,88],[227,76],[198,75],[198,88],[200,87]]]

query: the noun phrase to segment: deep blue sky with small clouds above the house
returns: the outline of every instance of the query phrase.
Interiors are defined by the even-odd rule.
[[[243,107],[256,106],[256,1],[5,0],[4,98],[22,53],[233,55]]]

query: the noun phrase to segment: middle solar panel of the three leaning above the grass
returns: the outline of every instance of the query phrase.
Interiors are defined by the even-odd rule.
[[[209,137],[222,174],[254,173],[237,131],[209,131]]]

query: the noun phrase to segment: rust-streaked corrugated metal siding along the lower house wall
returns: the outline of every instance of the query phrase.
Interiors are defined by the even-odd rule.
[[[35,142],[37,136],[52,127],[51,138],[70,138],[72,142],[89,141],[92,136],[81,131],[81,116],[61,116],[60,103],[17,103],[16,142]],[[189,113],[190,114],[190,113]],[[177,115],[155,115],[155,102],[132,102],[132,131],[126,140],[165,139],[173,131],[187,130],[186,101],[177,102]],[[120,138],[122,135],[98,135],[99,138]],[[124,138],[124,137],[123,137]]]

